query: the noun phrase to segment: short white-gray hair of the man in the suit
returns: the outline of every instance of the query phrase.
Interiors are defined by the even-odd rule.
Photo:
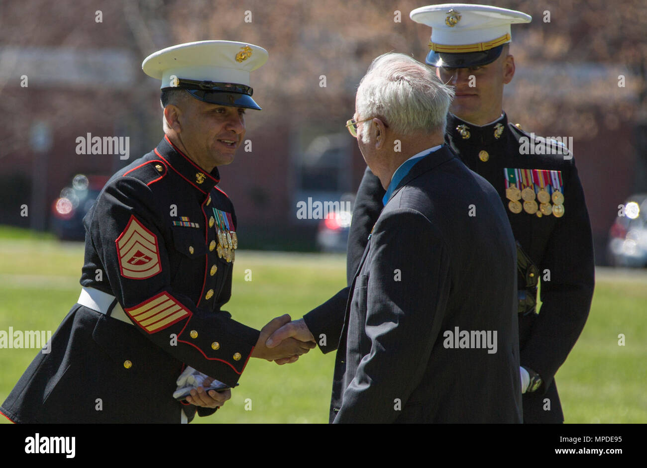
[[[397,134],[444,133],[454,89],[430,67],[389,52],[371,63],[357,89],[358,117],[381,117]]]

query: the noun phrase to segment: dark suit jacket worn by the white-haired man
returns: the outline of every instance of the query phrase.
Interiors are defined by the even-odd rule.
[[[521,422],[515,264],[494,189],[446,147],[422,158],[351,284],[330,420]],[[496,332],[496,348],[454,348],[456,330]]]

